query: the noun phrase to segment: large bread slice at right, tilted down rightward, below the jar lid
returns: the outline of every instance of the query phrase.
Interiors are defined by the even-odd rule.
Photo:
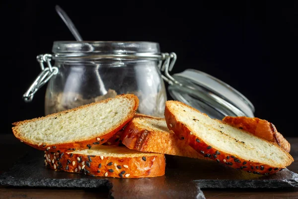
[[[197,152],[226,166],[254,174],[270,175],[294,162],[276,143],[212,119],[180,101],[165,104],[167,127]]]

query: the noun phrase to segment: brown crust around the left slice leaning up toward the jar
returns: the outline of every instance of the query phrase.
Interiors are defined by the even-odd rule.
[[[106,132],[102,133],[100,136],[96,135],[96,136],[94,136],[90,139],[87,139],[87,140],[82,139],[82,140],[77,140],[77,141],[73,141],[73,142],[69,142],[69,143],[47,144],[47,143],[41,142],[41,144],[39,145],[39,143],[38,144],[34,143],[31,140],[23,137],[21,132],[19,132],[18,127],[24,123],[34,122],[34,121],[41,120],[41,119],[44,119],[47,117],[55,117],[55,116],[59,116],[62,114],[68,114],[69,112],[73,112],[73,111],[81,109],[81,108],[92,106],[96,103],[106,103],[109,100],[113,100],[114,98],[109,98],[109,99],[102,100],[102,101],[92,102],[92,103],[81,105],[81,106],[78,106],[78,107],[75,107],[75,108],[72,108],[69,110],[52,113],[52,114],[49,114],[49,115],[46,115],[43,117],[14,122],[14,123],[12,123],[12,125],[14,125],[12,127],[12,132],[13,132],[14,136],[17,139],[19,139],[21,142],[24,142],[25,144],[28,144],[31,147],[36,148],[38,150],[56,151],[57,149],[59,149],[60,151],[71,152],[71,151],[74,151],[77,149],[91,148],[93,145],[103,144],[103,143],[107,142],[107,140],[109,138],[111,138],[115,133],[120,131],[134,117],[134,115],[139,107],[139,99],[137,96],[135,96],[133,94],[122,94],[122,95],[116,96],[115,98],[133,99],[135,101],[135,105],[132,108],[132,112],[126,118],[124,118],[121,123],[119,123],[118,125],[115,125],[110,131],[106,131]]]

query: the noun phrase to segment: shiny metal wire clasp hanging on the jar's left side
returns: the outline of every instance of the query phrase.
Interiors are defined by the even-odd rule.
[[[55,66],[52,66],[51,64],[51,60],[52,60],[51,54],[38,55],[36,59],[37,59],[37,62],[40,64],[40,68],[42,71],[37,76],[37,78],[32,83],[32,85],[29,87],[27,92],[23,95],[23,99],[26,102],[32,101],[34,94],[44,84],[46,84],[53,75],[56,75],[58,73],[58,68]],[[45,67],[44,63],[46,63],[48,67]]]

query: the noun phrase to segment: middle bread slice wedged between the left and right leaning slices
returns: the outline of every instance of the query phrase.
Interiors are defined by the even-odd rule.
[[[132,119],[123,130],[121,140],[126,147],[138,151],[209,160],[169,130],[164,118]]]

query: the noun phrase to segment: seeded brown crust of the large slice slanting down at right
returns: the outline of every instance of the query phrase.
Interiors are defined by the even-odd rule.
[[[286,151],[284,152],[287,155],[288,160],[283,165],[279,165],[276,163],[275,165],[278,165],[278,167],[273,167],[271,165],[262,164],[256,161],[253,162],[250,160],[243,159],[241,157],[237,157],[235,154],[226,153],[223,150],[217,149],[216,146],[209,146],[203,138],[191,134],[191,130],[188,128],[187,124],[184,124],[176,118],[175,110],[171,109],[169,105],[170,103],[179,103],[180,105],[187,106],[193,111],[200,111],[180,101],[169,100],[166,101],[164,115],[168,128],[170,130],[173,130],[179,137],[183,136],[187,143],[204,157],[208,157],[211,160],[217,161],[220,164],[232,167],[234,169],[241,169],[249,173],[260,175],[274,174],[278,171],[281,171],[282,169],[286,168],[294,162],[293,157]],[[222,122],[221,120],[218,121]],[[265,142],[268,142],[272,145],[278,146],[276,143],[271,143],[263,138],[259,139],[262,139]]]

